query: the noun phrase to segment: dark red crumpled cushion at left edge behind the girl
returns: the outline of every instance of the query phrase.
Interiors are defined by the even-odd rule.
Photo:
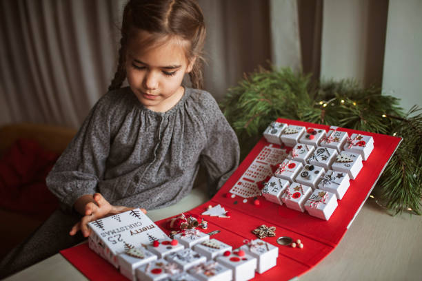
[[[58,157],[37,141],[14,142],[0,159],[0,208],[48,217],[59,206],[46,186],[46,176]]]

